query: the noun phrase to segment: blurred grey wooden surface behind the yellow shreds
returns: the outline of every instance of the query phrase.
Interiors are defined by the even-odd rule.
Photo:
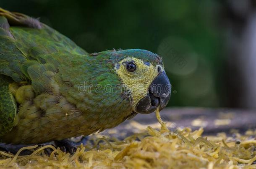
[[[204,135],[216,135],[219,132],[232,134],[234,129],[244,134],[248,129],[256,129],[256,111],[238,110],[230,108],[165,108],[160,112],[162,120],[167,122],[168,128],[190,127],[199,129],[204,127]],[[172,122],[172,123],[170,123]],[[115,127],[103,131],[103,134],[122,138],[146,129],[146,126],[157,128],[155,114],[138,114]],[[120,136],[121,134],[121,136]]]

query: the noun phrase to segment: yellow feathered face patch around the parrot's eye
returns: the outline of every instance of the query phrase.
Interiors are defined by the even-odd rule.
[[[133,62],[137,69],[129,72],[126,68],[127,63]],[[125,58],[116,65],[116,72],[123,81],[125,87],[132,92],[132,106],[135,106],[141,98],[144,98],[149,92],[149,85],[157,77],[157,67],[151,63],[144,63],[137,58]]]

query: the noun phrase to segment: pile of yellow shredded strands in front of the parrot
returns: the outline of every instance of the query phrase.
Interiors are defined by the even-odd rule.
[[[237,133],[235,138],[224,133],[203,137],[203,128],[172,132],[159,111],[156,117],[160,130],[148,126],[123,140],[95,134],[73,155],[52,145],[27,146],[14,155],[0,151],[0,168],[256,169],[256,131]],[[19,155],[25,149],[32,154]],[[50,155],[45,149],[51,150]]]

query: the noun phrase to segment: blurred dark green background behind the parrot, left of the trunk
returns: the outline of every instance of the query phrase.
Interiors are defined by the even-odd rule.
[[[40,18],[89,53],[158,53],[173,86],[169,106],[244,107],[228,91],[223,1],[1,0],[0,6]]]

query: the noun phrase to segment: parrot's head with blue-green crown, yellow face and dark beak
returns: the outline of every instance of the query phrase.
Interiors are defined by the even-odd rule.
[[[115,72],[131,93],[133,111],[141,114],[162,110],[171,95],[171,84],[159,55],[141,49],[111,52]]]

